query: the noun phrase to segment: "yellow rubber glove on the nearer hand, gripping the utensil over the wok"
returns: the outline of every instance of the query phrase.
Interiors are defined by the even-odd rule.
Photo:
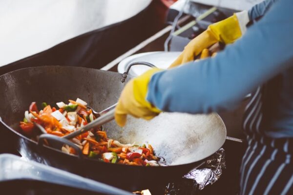
[[[125,126],[128,114],[147,120],[160,114],[161,111],[146,100],[149,80],[158,71],[161,70],[154,68],[146,71],[126,84],[115,109],[115,120],[119,126]]]

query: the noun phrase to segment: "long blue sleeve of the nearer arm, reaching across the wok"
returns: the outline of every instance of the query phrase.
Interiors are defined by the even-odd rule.
[[[292,66],[292,9],[292,0],[278,0],[241,39],[214,58],[154,74],[147,100],[167,112],[235,108],[258,85]]]

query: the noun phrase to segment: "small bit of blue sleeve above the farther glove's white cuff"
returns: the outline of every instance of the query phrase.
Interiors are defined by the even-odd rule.
[[[255,20],[261,16],[264,16],[265,13],[270,9],[272,4],[277,0],[264,0],[256,5],[254,5],[249,11],[248,16],[250,21]]]

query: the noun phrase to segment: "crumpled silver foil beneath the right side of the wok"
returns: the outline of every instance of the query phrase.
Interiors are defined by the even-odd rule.
[[[178,181],[169,183],[165,195],[196,195],[197,190],[202,190],[205,186],[216,182],[225,168],[225,150],[221,148],[210,156],[204,165],[191,170]]]

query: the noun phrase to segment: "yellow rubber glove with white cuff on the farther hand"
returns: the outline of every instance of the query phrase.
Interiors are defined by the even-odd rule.
[[[185,46],[180,56],[168,68],[193,61],[204,49],[209,48],[216,42],[233,43],[245,33],[248,22],[248,12],[243,11],[234,14],[228,19],[209,25],[206,31],[192,39]]]

